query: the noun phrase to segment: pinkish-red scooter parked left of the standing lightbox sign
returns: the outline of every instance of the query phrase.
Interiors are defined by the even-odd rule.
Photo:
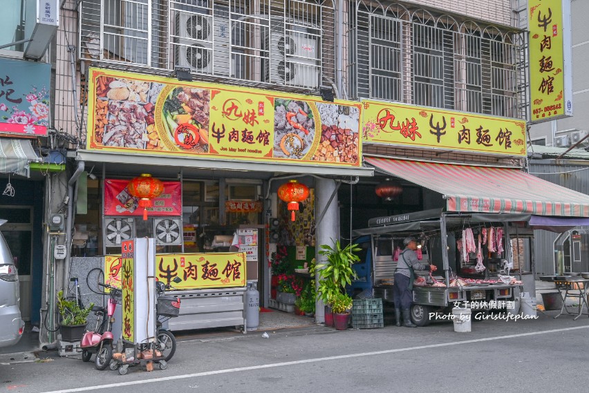
[[[84,333],[80,347],[82,348],[82,361],[88,362],[92,354],[96,354],[94,362],[96,370],[104,370],[113,358],[113,333],[111,332],[114,322],[113,315],[118,303],[120,303],[122,291],[111,287],[111,285],[101,283],[98,285],[109,289],[109,304],[106,308],[92,307],[92,311],[97,315],[96,327],[93,332],[87,330]]]

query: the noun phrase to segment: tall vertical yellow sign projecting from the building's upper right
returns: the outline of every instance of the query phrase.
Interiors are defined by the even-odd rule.
[[[570,0],[530,0],[530,123],[572,116]]]

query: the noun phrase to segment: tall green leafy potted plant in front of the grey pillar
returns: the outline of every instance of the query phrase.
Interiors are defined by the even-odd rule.
[[[361,249],[356,244],[349,244],[342,248],[337,240],[333,247],[321,245],[319,254],[326,256],[327,262],[317,265],[319,270],[319,289],[317,296],[326,305],[332,305],[333,299],[344,294],[346,285],[356,278],[356,272],[352,269],[354,262],[360,260],[355,252]]]

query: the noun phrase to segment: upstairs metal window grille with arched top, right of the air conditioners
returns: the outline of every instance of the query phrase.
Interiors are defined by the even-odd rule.
[[[351,2],[350,97],[526,117],[525,35],[447,15]]]

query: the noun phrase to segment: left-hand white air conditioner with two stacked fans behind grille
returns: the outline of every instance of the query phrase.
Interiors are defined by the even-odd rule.
[[[229,76],[230,31],[226,17],[215,12],[178,12],[174,20],[174,64],[192,72]]]

